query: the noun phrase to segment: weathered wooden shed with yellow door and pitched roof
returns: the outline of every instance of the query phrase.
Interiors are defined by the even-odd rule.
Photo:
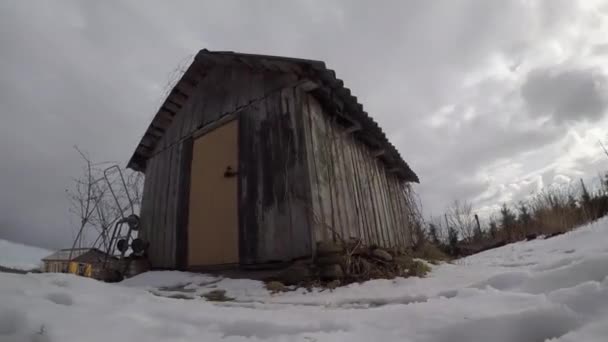
[[[418,177],[320,61],[201,50],[131,157],[152,267],[259,266],[412,242]]]

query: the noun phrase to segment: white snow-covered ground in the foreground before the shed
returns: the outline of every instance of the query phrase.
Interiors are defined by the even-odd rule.
[[[333,292],[271,295],[256,281],[181,272],[113,285],[0,273],[0,341],[605,342],[607,276],[606,219],[443,264],[425,279]],[[214,289],[234,301],[200,297]]]

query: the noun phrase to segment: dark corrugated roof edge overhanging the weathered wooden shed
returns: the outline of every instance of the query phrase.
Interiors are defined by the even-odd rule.
[[[139,142],[127,167],[136,171],[145,171],[146,161],[152,156],[156,144],[165,130],[193,93],[199,81],[202,68],[213,66],[244,66],[256,70],[293,73],[301,79],[308,79],[317,85],[311,91],[323,105],[330,110],[344,108],[344,115],[349,116],[361,126],[363,134],[358,136],[368,144],[385,150],[384,161],[405,181],[419,183],[418,176],[403,160],[397,149],[391,144],[378,124],[363,110],[363,106],[353,96],[344,82],[336,77],[335,71],[328,69],[322,61],[290,57],[253,55],[231,51],[209,51],[203,49],[195,56],[181,79],[175,84],[165,102],[160,106],[154,119],[148,126]]]

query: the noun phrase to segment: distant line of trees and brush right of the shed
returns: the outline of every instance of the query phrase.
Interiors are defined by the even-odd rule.
[[[517,205],[504,203],[480,223],[468,202],[455,201],[426,224],[424,238],[451,257],[466,256],[511,242],[550,237],[608,214],[608,173],[590,191],[583,180],[549,187]]]

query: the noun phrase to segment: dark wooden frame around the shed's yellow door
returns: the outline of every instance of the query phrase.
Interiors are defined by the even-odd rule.
[[[177,219],[176,219],[176,245],[175,245],[175,260],[176,266],[179,270],[193,270],[193,269],[217,269],[229,267],[231,264],[225,265],[210,265],[209,267],[205,266],[195,266],[192,267],[188,264],[188,219],[190,215],[190,179],[192,174],[192,159],[193,159],[193,150],[194,150],[194,141],[197,138],[200,138],[207,133],[210,133],[224,125],[231,123],[234,120],[239,119],[240,113],[233,113],[231,115],[226,115],[221,119],[214,121],[212,123],[207,124],[206,126],[201,127],[194,133],[192,133],[189,137],[187,137],[182,142],[182,151],[181,151],[181,159],[180,159],[180,175],[179,175],[179,185],[178,185],[178,196],[177,196]],[[237,122],[237,133],[236,133],[236,159],[238,161],[237,167],[237,193],[236,196],[236,208],[237,208],[237,250],[239,252],[239,261],[237,266],[240,265],[241,260],[243,258],[242,250],[243,250],[243,233],[242,233],[242,224],[241,224],[241,163],[240,163],[240,143],[241,143],[241,125],[240,122]],[[234,266],[234,265],[233,265]]]

